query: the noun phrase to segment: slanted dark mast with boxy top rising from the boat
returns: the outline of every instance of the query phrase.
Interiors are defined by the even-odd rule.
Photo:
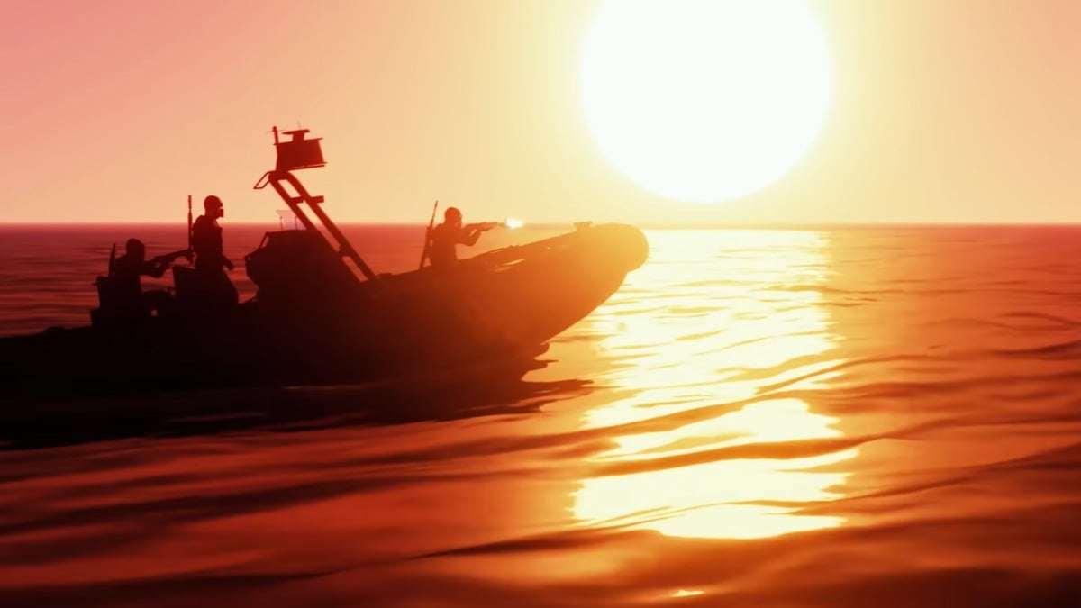
[[[278,128],[273,128],[273,145],[278,153],[278,162],[273,171],[267,171],[258,182],[255,183],[255,189],[261,190],[265,188],[268,184],[273,187],[278,196],[285,201],[290,210],[296,214],[304,224],[304,227],[309,230],[319,232],[318,226],[312,222],[308,213],[304,211],[302,204],[307,204],[311,213],[319,220],[323,225],[323,228],[330,233],[331,237],[337,243],[337,253],[343,257],[348,257],[353,264],[360,268],[364,277],[370,281],[378,280],[378,277],[372,269],[364,263],[361,259],[360,253],[353,249],[352,244],[345,238],[342,230],[338,229],[337,225],[326,215],[326,212],[320,207],[323,202],[322,196],[312,196],[308,193],[308,189],[301,184],[301,181],[293,175],[292,171],[298,169],[311,169],[317,167],[323,167],[326,161],[323,160],[323,151],[320,148],[319,141],[321,137],[316,137],[313,140],[306,140],[304,135],[308,132],[307,129],[297,129],[295,131],[282,131],[282,135],[291,135],[292,140],[288,142],[280,142],[278,140]],[[292,189],[296,193],[294,196],[291,194],[283,184],[289,184]],[[332,243],[333,244],[333,243]]]

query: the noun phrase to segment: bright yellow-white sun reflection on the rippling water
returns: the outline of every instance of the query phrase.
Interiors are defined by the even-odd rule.
[[[763,538],[836,527],[800,512],[839,494],[846,473],[825,468],[856,449],[808,458],[742,458],[671,466],[662,459],[732,446],[839,437],[837,419],[763,387],[820,389],[837,336],[816,288],[828,276],[827,238],[811,232],[663,232],[650,262],[590,317],[617,362],[596,380],[631,396],[585,414],[587,427],[649,421],[613,437],[595,463],[635,472],[582,481],[574,515],[586,524],[633,518],[669,536]],[[680,276],[688,257],[700,260]],[[804,378],[804,380],[799,380]],[[656,468],[650,470],[655,463]],[[815,470],[822,467],[820,470]]]

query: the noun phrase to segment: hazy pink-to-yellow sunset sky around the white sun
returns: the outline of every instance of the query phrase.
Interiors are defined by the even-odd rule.
[[[830,101],[782,179],[717,204],[616,169],[587,123],[598,0],[0,0],[0,223],[277,223],[272,125],[339,222],[1081,221],[1081,2],[809,0]]]

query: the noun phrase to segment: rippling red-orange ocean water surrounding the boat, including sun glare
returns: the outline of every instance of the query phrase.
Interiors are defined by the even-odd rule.
[[[266,228],[223,226],[250,296]],[[416,266],[423,227],[346,232]],[[131,236],[185,246],[0,227],[0,335],[86,323]],[[0,606],[1081,606],[1081,228],[646,237],[513,386],[185,395],[248,415],[8,444]]]

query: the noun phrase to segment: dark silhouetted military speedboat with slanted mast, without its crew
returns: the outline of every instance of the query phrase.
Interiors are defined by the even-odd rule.
[[[298,220],[245,256],[257,288],[213,305],[190,266],[155,313],[134,321],[98,277],[91,323],[0,339],[8,396],[103,396],[243,386],[348,384],[478,365],[528,366],[548,341],[619,289],[649,252],[631,225],[579,223],[451,267],[375,273],[310,194],[301,170],[325,166],[320,138],[275,128],[273,189]],[[189,235],[190,235],[189,199]],[[120,322],[124,321],[124,322]]]

